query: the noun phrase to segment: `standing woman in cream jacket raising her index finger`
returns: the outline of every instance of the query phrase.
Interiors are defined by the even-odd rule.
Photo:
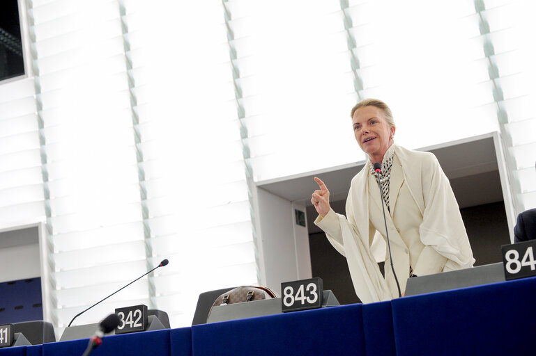
[[[328,188],[317,177],[319,189],[311,202],[319,213],[314,223],[346,257],[360,300],[377,302],[399,295],[389,255],[385,254],[384,278],[371,250],[375,236],[386,238],[381,196],[402,293],[408,277],[473,266],[456,198],[436,156],[395,145],[395,122],[380,100],[363,100],[352,108],[351,118],[355,139],[369,159],[352,179],[346,217],[330,208]],[[382,193],[372,168],[376,162],[382,165]]]

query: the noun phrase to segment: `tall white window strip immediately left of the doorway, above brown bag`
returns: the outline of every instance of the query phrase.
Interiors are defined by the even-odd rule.
[[[222,1],[124,3],[146,242],[169,259],[153,300],[186,326],[199,293],[258,280],[224,10]]]

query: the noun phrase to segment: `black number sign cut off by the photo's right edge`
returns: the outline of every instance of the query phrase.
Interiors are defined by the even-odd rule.
[[[536,275],[536,240],[504,245],[502,250],[505,280]]]

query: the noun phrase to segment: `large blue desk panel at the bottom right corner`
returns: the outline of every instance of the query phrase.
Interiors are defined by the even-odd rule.
[[[536,355],[536,277],[392,300],[397,355]]]

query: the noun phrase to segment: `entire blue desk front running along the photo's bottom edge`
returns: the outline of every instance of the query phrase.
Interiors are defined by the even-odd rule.
[[[535,321],[531,277],[391,302],[108,336],[92,356],[536,355]],[[3,348],[0,356],[76,356],[87,343]]]

